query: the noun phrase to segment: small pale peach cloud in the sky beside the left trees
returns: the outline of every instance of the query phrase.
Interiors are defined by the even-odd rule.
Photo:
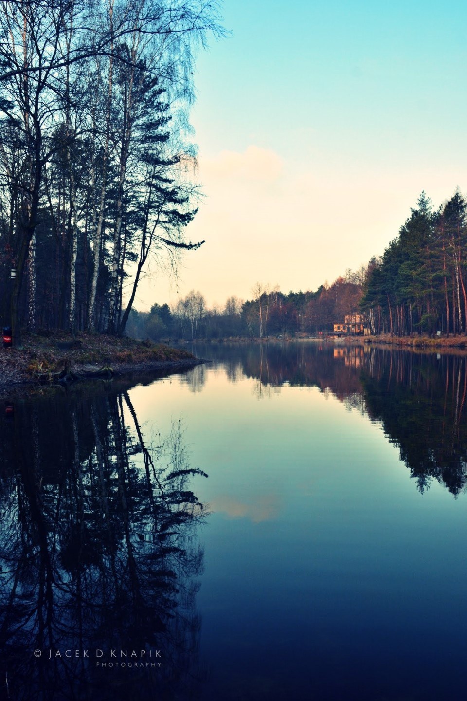
[[[243,153],[221,151],[201,163],[204,178],[274,182],[282,172],[282,160],[275,151],[249,146]]]

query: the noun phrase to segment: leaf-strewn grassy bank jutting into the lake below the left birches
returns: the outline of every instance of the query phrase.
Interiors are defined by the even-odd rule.
[[[193,364],[192,353],[163,343],[98,334],[27,334],[23,348],[0,349],[0,383],[47,379],[57,374],[98,371],[128,372],[160,365]]]

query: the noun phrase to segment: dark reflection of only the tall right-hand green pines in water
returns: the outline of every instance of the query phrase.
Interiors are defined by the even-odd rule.
[[[385,357],[386,356],[386,357]],[[382,422],[423,492],[432,479],[466,489],[465,356],[372,353],[362,378],[368,414]]]

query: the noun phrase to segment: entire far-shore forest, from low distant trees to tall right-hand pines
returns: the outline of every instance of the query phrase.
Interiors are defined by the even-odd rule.
[[[467,332],[467,203],[459,190],[433,210],[424,192],[381,257],[345,271],[315,292],[279,285],[252,288],[252,298],[229,297],[207,308],[192,290],[172,308],[132,310],[128,334],[154,340],[314,336],[332,334],[346,315],[360,313],[372,335],[456,336]]]

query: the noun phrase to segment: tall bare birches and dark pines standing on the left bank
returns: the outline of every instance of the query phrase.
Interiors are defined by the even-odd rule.
[[[5,0],[0,13],[4,325],[122,334],[148,257],[176,264],[201,0]],[[168,256],[164,254],[167,253]]]

